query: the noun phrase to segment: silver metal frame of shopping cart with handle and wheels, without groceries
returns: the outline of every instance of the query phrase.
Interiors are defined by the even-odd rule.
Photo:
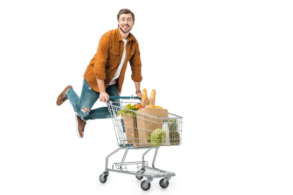
[[[133,97],[133,96],[130,96],[130,97],[109,97],[109,98],[121,99],[121,102],[119,102],[120,106],[113,105],[114,102],[111,102],[111,101],[109,101],[107,104],[108,110],[112,115],[112,121],[113,121],[113,125],[114,125],[115,134],[116,134],[119,148],[117,150],[115,150],[114,152],[112,152],[111,154],[109,154],[108,156],[106,156],[105,172],[103,172],[100,175],[100,177],[99,177],[100,182],[105,183],[107,181],[107,177],[109,175],[109,172],[116,172],[116,173],[133,175],[133,176],[136,176],[137,179],[142,179],[143,177],[146,177],[146,180],[142,181],[142,183],[141,183],[141,188],[143,190],[148,190],[150,188],[150,182],[154,178],[164,177],[160,180],[159,184],[162,188],[167,188],[169,185],[168,180],[171,179],[172,176],[176,176],[176,174],[155,168],[155,160],[156,160],[156,156],[157,156],[158,149],[160,148],[160,146],[133,146],[133,144],[127,144],[125,142],[126,137],[121,137],[121,136],[124,136],[124,133],[122,132],[124,129],[122,130],[121,128],[118,128],[118,126],[116,124],[117,111],[123,109],[124,104],[126,104],[126,103],[137,103],[137,102],[133,102],[133,100],[139,99],[139,98]],[[123,99],[128,99],[131,102],[129,102],[129,101],[123,102]],[[115,103],[118,103],[118,102],[115,102]],[[147,115],[147,116],[149,116],[149,115]],[[172,115],[172,116],[176,116],[176,115]],[[152,117],[152,116],[150,116],[150,117]],[[179,117],[179,116],[176,116],[176,117]],[[180,118],[182,119],[182,117],[180,117]],[[182,121],[181,121],[181,123],[182,123]],[[180,137],[180,139],[182,139],[182,137]],[[121,140],[124,140],[124,141],[121,141]],[[180,145],[181,145],[181,142],[180,142]],[[150,166],[148,166],[148,162],[145,160],[145,155],[151,149],[155,149],[155,153],[153,156],[152,165],[150,167]],[[124,156],[123,156],[121,162],[114,163],[112,165],[112,169],[108,168],[109,157],[113,156],[114,154],[116,154],[120,150],[125,150],[125,153],[124,153]],[[125,159],[126,159],[126,156],[127,156],[127,153],[129,150],[146,150],[146,152],[143,153],[141,161],[125,162]],[[128,170],[127,167],[130,167],[130,166],[132,166],[132,167],[136,166],[137,170],[135,170],[135,171]]]

